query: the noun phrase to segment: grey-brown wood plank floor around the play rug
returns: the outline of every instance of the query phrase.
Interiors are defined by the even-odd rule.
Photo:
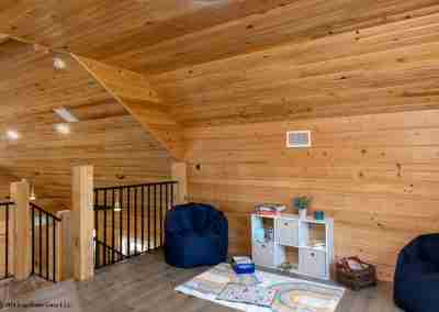
[[[235,311],[173,290],[176,286],[206,269],[188,270],[170,267],[164,261],[161,250],[157,250],[100,269],[93,280],[75,282],[74,290],[69,291],[76,292],[80,311]],[[61,285],[58,283],[54,288]],[[376,288],[360,292],[347,291],[337,312],[401,311],[394,307],[391,298],[391,283],[380,283]]]

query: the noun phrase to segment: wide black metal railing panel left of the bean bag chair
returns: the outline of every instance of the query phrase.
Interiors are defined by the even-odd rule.
[[[115,264],[164,245],[166,211],[178,182],[94,189],[94,267]]]

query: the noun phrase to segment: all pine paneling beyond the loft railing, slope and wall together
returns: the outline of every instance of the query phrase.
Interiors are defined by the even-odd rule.
[[[55,69],[54,57],[66,68]],[[69,55],[9,40],[0,44],[0,68],[4,179],[29,179],[36,185],[38,201],[63,209],[70,207],[76,165],[94,165],[98,186],[169,178],[168,152]],[[69,124],[69,134],[55,129],[63,122],[53,112],[59,107],[79,119]],[[9,130],[18,132],[19,140],[10,140]]]

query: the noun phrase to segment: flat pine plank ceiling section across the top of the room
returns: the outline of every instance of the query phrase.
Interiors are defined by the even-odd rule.
[[[0,33],[143,74],[423,19],[436,0],[3,0]]]

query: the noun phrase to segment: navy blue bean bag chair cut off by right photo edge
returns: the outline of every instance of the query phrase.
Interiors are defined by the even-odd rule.
[[[399,253],[394,301],[406,312],[439,311],[439,234],[421,235]]]

